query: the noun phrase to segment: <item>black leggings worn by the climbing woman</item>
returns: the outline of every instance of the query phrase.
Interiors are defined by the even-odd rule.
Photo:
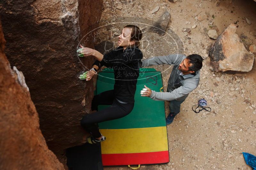
[[[111,105],[112,104],[112,105]],[[85,115],[81,120],[82,127],[92,134],[94,138],[101,136],[98,123],[114,120],[128,115],[134,103],[120,103],[114,98],[114,90],[96,95],[92,99],[92,110],[98,110],[98,105],[111,105],[110,107]]]

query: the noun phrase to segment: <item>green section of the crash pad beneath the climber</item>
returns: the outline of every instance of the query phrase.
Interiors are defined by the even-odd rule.
[[[100,72],[97,80],[97,94],[114,89],[114,83],[113,72]],[[140,96],[140,90],[144,88],[144,85],[160,92],[160,89],[163,87],[161,72],[157,72],[153,68],[140,69],[132,112],[125,117],[99,123],[100,129],[132,129],[166,126],[164,101],[154,101],[149,97]],[[102,110],[106,107],[109,106],[100,105],[98,109]]]

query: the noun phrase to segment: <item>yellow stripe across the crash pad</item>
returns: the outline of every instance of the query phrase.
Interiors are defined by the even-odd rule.
[[[100,132],[106,137],[101,142],[102,154],[168,151],[166,126],[101,129]]]

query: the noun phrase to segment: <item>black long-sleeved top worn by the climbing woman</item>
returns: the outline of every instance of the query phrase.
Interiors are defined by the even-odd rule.
[[[134,103],[137,79],[139,77],[140,62],[143,57],[138,47],[117,47],[104,54],[101,61],[96,60],[93,65],[106,66],[114,69],[115,98],[125,102]]]

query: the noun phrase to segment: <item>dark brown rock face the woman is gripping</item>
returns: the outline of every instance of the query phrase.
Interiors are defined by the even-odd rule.
[[[26,77],[47,145],[55,153],[84,142],[80,119],[89,113],[92,81],[78,76],[92,57],[79,58],[81,43],[93,48],[103,0],[0,1],[6,55]],[[97,31],[97,30],[96,30]]]

